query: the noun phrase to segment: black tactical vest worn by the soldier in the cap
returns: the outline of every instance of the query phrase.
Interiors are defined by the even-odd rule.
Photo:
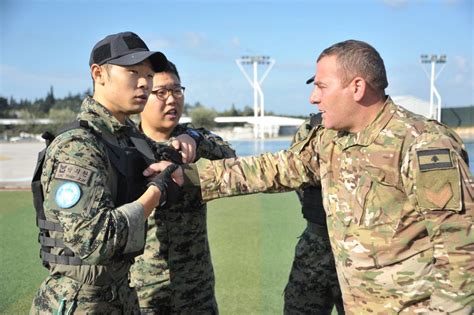
[[[41,172],[43,169],[46,149],[51,144],[53,139],[66,131],[84,128],[90,131],[96,139],[104,144],[106,148],[107,157],[116,170],[118,176],[117,193],[114,200],[114,205],[119,207],[123,204],[135,201],[145,191],[146,179],[142,175],[143,170],[151,163],[155,162],[154,154],[148,146],[145,138],[139,132],[132,132],[129,134],[130,140],[133,143],[131,147],[120,147],[116,138],[112,134],[103,132],[98,134],[95,132],[85,120],[74,121],[63,128],[56,134],[45,132],[42,137],[46,140],[46,148],[38,154],[38,161],[36,163],[33,180],[31,182],[31,190],[33,193],[33,203],[36,209],[36,224],[39,228],[38,242],[41,245],[40,257],[43,265],[49,268],[49,263],[63,264],[63,265],[88,265],[65,246],[62,238],[50,237],[50,232],[56,231],[63,233],[63,229],[59,223],[46,220],[44,213],[43,202],[43,187],[41,185]],[[52,248],[62,248],[61,255],[51,254]],[[133,257],[141,255],[141,251],[124,254],[117,259],[130,260]]]

